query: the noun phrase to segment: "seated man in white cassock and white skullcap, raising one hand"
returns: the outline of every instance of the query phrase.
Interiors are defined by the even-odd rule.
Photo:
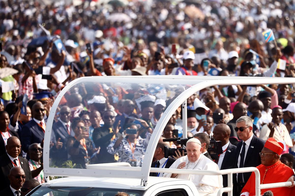
[[[190,170],[219,170],[218,165],[202,155],[201,142],[191,138],[186,143],[187,155],[178,158],[169,168]],[[196,175],[196,174],[171,174],[164,173],[163,177],[180,178],[190,180],[196,185],[201,196],[217,193],[222,188],[222,176]]]

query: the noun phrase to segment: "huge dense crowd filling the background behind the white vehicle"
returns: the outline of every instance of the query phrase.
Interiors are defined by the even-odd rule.
[[[46,5],[15,0],[1,1],[0,7],[0,190],[9,191],[10,185],[17,196],[25,180],[36,186],[32,178],[45,182],[42,150],[47,118],[60,90],[76,78],[295,77],[293,1],[129,1],[127,5],[58,1]],[[267,29],[272,30],[274,41],[265,41],[262,33]],[[175,85],[94,81],[71,87],[54,111],[50,166],[68,166],[69,160],[76,168],[113,162],[142,166],[165,108],[183,87],[190,87]],[[268,167],[266,154],[273,153],[271,163],[280,161],[294,172],[294,93],[294,84],[220,85],[196,92],[187,99],[188,136],[196,139],[187,150],[188,155],[197,149],[204,156],[199,153],[191,159],[178,151],[164,158],[165,145],[180,147],[163,142],[163,138],[182,137],[180,106],[163,130],[154,154],[158,162],[152,166]],[[224,153],[217,160],[207,152],[209,135],[222,141]],[[274,150],[268,141],[282,144],[282,151]],[[196,167],[205,157],[208,160]],[[247,181],[255,180],[250,175],[235,177],[236,195],[242,190],[252,194]],[[217,177],[189,179],[204,195],[227,186],[226,176],[223,183]],[[198,184],[208,179],[212,181],[206,187]]]

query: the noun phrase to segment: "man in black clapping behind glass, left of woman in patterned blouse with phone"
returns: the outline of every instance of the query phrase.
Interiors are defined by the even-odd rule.
[[[114,129],[115,114],[111,110],[106,110],[102,115],[104,125],[93,130],[93,141],[98,148],[100,146],[100,153],[98,156],[98,163],[114,163],[114,155],[108,153],[106,147],[112,140],[116,138],[119,128]],[[120,124],[120,123],[119,123]]]

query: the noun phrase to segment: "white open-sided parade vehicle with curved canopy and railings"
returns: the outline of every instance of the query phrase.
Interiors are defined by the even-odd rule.
[[[229,170],[183,170],[151,168],[153,153],[158,140],[168,120],[182,104],[183,108],[183,138],[187,138],[186,130],[186,99],[201,89],[214,85],[255,85],[255,84],[290,84],[295,83],[295,78],[266,78],[266,77],[230,77],[230,76],[94,76],[78,78],[69,83],[60,92],[50,111],[45,131],[43,150],[44,175],[47,182],[36,187],[28,195],[32,196],[114,196],[117,192],[127,192],[130,196],[198,196],[200,195],[193,182],[168,177],[150,177],[150,172],[199,174],[199,175],[222,175],[228,174],[230,187],[220,188],[218,193],[209,195],[222,195],[228,192],[232,196],[232,174],[252,172],[256,174],[256,196],[260,195],[260,189],[271,187],[290,186],[291,182],[281,182],[260,185],[260,174],[255,167],[229,169]],[[106,163],[87,165],[85,169],[61,168],[52,163],[54,156],[50,153],[50,141],[52,139],[52,125],[63,96],[70,92],[84,91],[99,93],[99,89],[124,89],[130,93],[138,92],[145,88],[151,96],[164,100],[172,100],[167,105],[162,117],[155,126],[150,137],[144,160],[141,167],[131,167],[129,163]],[[85,97],[84,97],[85,98]],[[67,97],[68,101],[71,96]],[[63,102],[64,104],[64,102]],[[85,167],[85,166],[84,166]],[[58,176],[49,180],[49,176]]]

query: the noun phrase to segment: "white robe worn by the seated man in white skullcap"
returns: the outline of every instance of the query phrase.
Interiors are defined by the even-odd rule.
[[[204,155],[200,155],[194,163],[189,162],[187,155],[178,158],[169,168],[176,169],[182,162],[186,162],[183,169],[194,170],[219,170],[218,165]],[[171,173],[164,173],[163,177],[171,177]],[[210,193],[217,193],[222,188],[222,175],[195,175],[178,174],[176,178],[190,180],[196,186],[199,195],[205,196]]]

